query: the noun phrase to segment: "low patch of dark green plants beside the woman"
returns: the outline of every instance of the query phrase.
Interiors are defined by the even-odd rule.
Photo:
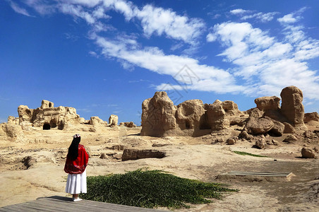
[[[200,182],[160,170],[135,170],[126,174],[88,177],[88,193],[80,198],[144,208],[189,208],[206,204],[224,192],[237,192],[224,184]]]

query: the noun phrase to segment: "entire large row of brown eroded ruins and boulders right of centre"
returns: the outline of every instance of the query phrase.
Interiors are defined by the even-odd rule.
[[[212,131],[239,126],[248,134],[282,136],[305,130],[305,122],[319,121],[316,112],[304,115],[303,94],[299,88],[289,86],[282,90],[282,105],[276,96],[256,98],[256,107],[241,112],[232,101],[215,100],[203,104],[201,100],[186,100],[179,105],[167,93],[156,92],[142,104],[143,136],[201,136]]]

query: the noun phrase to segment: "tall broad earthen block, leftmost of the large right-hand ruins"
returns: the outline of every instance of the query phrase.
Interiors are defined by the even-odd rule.
[[[153,98],[143,101],[143,136],[163,136],[165,131],[176,129],[176,107],[164,91],[156,92]]]

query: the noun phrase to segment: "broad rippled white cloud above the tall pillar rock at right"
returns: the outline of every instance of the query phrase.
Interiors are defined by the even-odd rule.
[[[297,42],[284,42],[289,41],[286,37],[279,42],[249,23],[218,24],[213,34],[225,47],[219,55],[238,66],[234,75],[246,80],[248,95],[279,95],[282,88],[294,85],[306,98],[319,100],[315,91],[319,89],[319,76],[301,61],[301,57],[319,57],[318,40],[303,35]]]

